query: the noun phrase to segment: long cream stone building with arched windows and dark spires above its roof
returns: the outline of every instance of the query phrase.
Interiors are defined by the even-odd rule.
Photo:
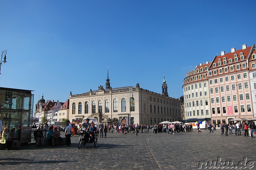
[[[179,99],[168,97],[164,78],[162,94],[134,86],[112,88],[109,78],[105,89],[82,94],[69,95],[69,120],[75,122],[80,118],[96,118],[108,124],[122,122],[125,124],[153,125],[163,121],[181,121],[181,104]]]

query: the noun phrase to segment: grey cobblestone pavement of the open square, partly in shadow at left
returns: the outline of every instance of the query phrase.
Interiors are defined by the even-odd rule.
[[[256,169],[256,138],[244,137],[243,132],[242,136],[225,136],[220,129],[208,132],[194,130],[170,135],[154,134],[150,129],[139,136],[107,133],[106,138],[98,138],[97,148],[88,144],[80,150],[78,136],[71,137],[70,147],[22,145],[19,150],[1,150],[0,169],[189,170],[199,169],[199,161],[214,161],[218,157],[233,161],[233,165],[247,157],[247,162],[255,164],[250,167]]]

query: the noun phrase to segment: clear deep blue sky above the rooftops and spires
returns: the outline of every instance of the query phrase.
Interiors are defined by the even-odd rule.
[[[34,105],[105,87],[183,95],[186,73],[255,42],[255,1],[1,1],[0,86]]]

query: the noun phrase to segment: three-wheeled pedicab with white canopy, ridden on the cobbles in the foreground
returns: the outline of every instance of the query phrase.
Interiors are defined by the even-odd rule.
[[[84,122],[86,122],[86,119],[87,118],[83,119],[82,124]],[[89,144],[93,143],[94,147],[97,147],[97,145],[98,145],[98,133],[99,133],[99,123],[98,123],[98,120],[95,119],[95,118],[89,118],[89,119],[90,119],[90,121],[89,121],[90,125],[91,125],[92,122],[94,123],[94,126],[96,127],[96,131],[92,135],[92,138],[90,138],[90,142],[88,142],[88,140],[89,140],[88,132],[86,132],[85,130],[79,131],[78,149],[80,149],[84,145],[87,145],[88,143]]]

